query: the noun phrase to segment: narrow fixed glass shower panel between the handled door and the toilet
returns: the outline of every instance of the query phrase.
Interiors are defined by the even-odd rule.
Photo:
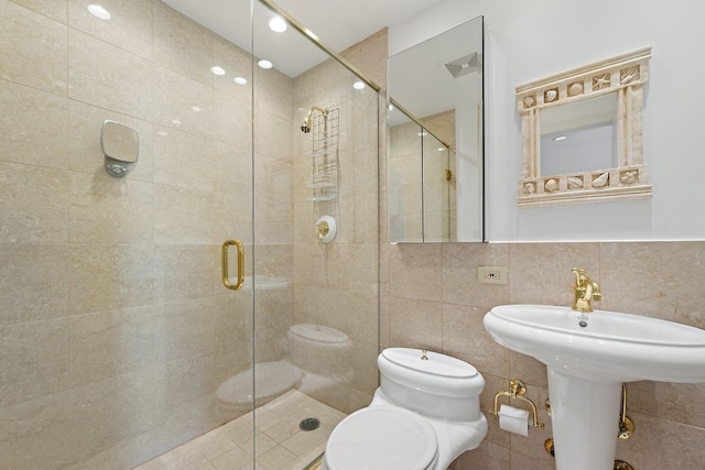
[[[253,7],[254,25],[288,22],[253,29],[254,452],[302,470],[377,387],[380,102],[295,19]]]

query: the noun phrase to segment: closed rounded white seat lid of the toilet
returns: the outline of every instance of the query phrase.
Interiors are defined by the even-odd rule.
[[[328,470],[427,470],[438,441],[431,424],[406,409],[370,406],[343,419],[326,444]]]

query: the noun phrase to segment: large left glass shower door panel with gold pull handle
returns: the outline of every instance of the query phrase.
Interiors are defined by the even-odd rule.
[[[0,467],[133,468],[242,412],[251,55],[160,1],[35,3],[0,0]]]

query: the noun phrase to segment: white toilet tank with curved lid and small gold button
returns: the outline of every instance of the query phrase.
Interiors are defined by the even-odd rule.
[[[377,365],[378,393],[393,404],[438,419],[484,419],[479,400],[485,379],[467,362],[433,351],[424,356],[420,349],[388,348]]]

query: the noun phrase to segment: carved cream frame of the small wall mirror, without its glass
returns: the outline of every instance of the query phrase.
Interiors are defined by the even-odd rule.
[[[578,203],[593,198],[651,197],[642,155],[642,86],[649,80],[651,47],[534,80],[516,88],[521,116],[522,170],[518,204]],[[617,94],[617,167],[541,175],[541,111]]]

